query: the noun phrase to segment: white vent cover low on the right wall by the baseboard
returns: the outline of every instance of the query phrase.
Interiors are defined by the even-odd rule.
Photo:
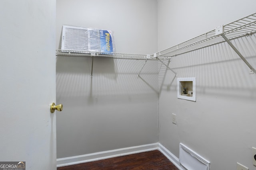
[[[188,170],[210,170],[210,162],[180,143],[180,164]]]

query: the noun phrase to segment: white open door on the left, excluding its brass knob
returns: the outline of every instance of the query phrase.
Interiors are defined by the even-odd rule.
[[[0,162],[26,170],[56,169],[55,7],[0,1]]]

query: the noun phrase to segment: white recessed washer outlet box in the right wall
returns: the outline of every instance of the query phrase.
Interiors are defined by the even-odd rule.
[[[178,98],[196,101],[196,78],[177,79]]]

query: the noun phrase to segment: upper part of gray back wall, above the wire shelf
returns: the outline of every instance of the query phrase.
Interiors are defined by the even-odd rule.
[[[62,25],[114,31],[117,53],[157,51],[156,0],[56,0],[56,48]]]

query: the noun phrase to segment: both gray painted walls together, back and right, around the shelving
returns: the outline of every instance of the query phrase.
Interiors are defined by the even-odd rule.
[[[60,38],[62,24],[111,29],[117,52],[151,54],[250,15],[255,5],[254,0],[57,0],[56,35]],[[112,20],[100,20],[95,11],[103,6],[112,9]],[[233,42],[255,68],[255,35]],[[92,79],[90,64],[85,57],[57,59],[57,102],[64,104],[57,115],[58,158],[154,143],[159,134],[175,156],[182,142],[210,160],[211,170],[236,169],[236,162],[255,168],[256,74],[249,74],[226,43],[172,58],[178,77],[196,77],[196,102],[177,98],[177,78],[159,63],[147,63],[143,79],[136,78],[142,61],[96,59]]]

